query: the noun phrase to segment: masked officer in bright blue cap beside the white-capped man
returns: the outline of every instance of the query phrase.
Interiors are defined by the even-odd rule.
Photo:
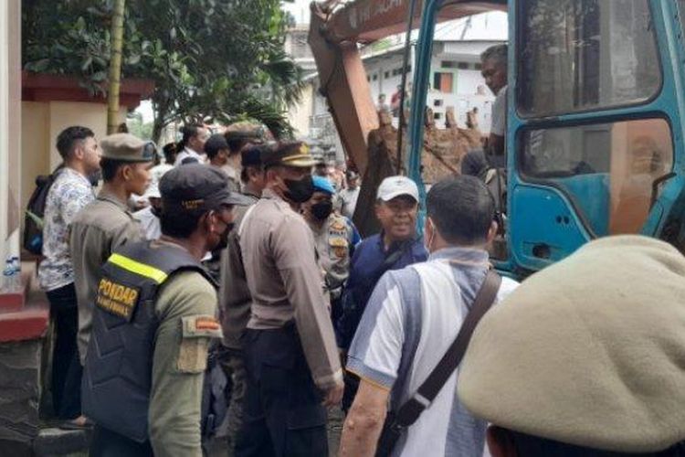
[[[313,176],[312,183],[314,194],[302,205],[302,216],[314,235],[335,322],[342,312],[342,286],[350,275],[350,259],[360,237],[350,219],[333,212],[335,189],[331,182],[325,177]]]

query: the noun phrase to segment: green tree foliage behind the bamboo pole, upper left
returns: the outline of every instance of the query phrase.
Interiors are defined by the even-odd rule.
[[[24,0],[23,65],[104,94],[112,0]],[[254,119],[292,133],[301,69],[283,52],[279,0],[128,0],[122,76],[155,82],[153,138],[170,122]]]

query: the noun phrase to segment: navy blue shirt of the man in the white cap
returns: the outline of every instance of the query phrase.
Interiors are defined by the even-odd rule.
[[[395,260],[387,265],[386,260],[392,258]],[[383,233],[364,239],[354,250],[350,277],[342,296],[342,316],[335,326],[338,345],[347,348],[352,342],[371,292],[385,271],[399,270],[427,258],[428,251],[421,238],[393,243],[387,250]]]

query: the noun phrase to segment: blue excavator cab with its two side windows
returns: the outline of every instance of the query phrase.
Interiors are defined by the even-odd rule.
[[[419,183],[436,21],[446,8],[503,3],[421,5],[408,122],[408,172]],[[616,234],[683,250],[685,0],[506,6],[507,214],[497,268],[523,277]]]

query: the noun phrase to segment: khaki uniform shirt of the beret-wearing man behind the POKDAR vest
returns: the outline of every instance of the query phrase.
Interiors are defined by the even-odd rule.
[[[93,303],[98,292],[100,269],[112,250],[144,238],[140,222],[126,203],[107,191],[79,211],[71,222],[69,250],[74,265],[76,297],[79,303],[79,357],[86,363],[92,327]]]

